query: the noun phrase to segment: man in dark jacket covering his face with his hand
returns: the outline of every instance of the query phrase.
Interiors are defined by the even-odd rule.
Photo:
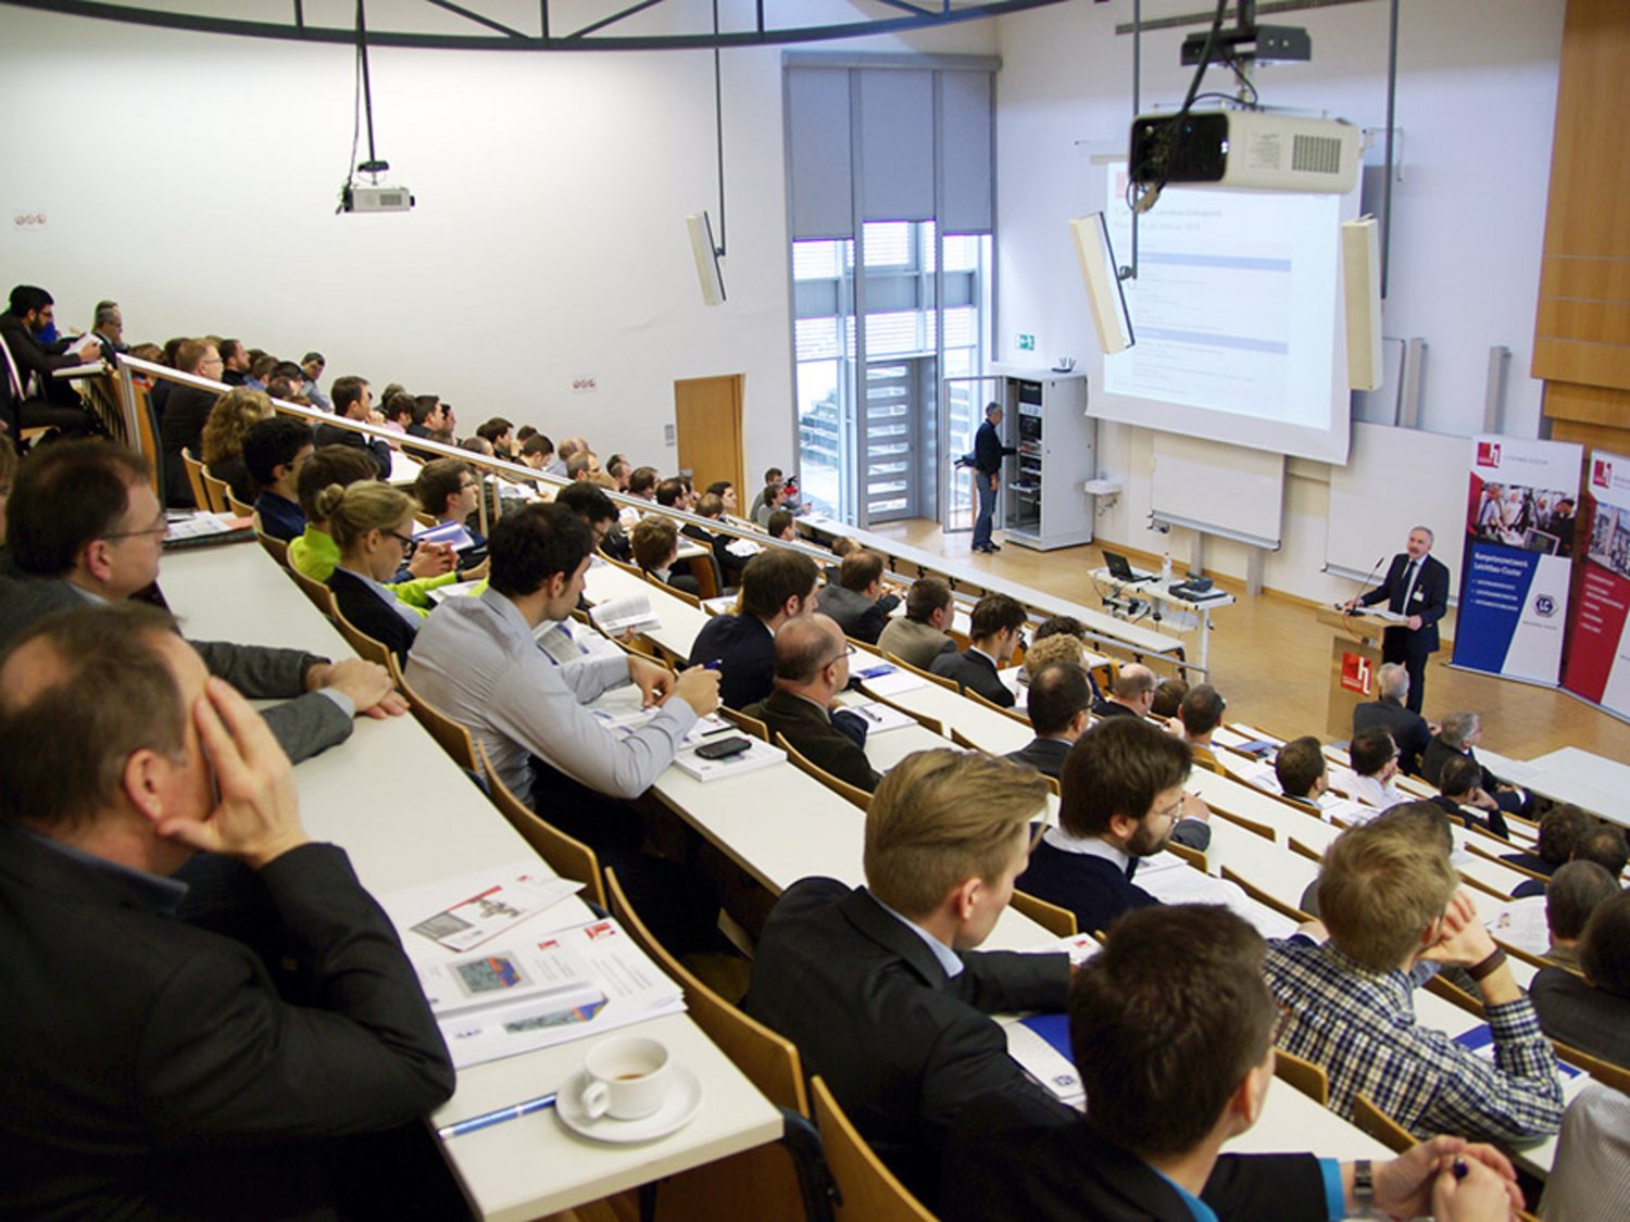
[[[248,702],[168,616],[83,608],[0,663],[0,738],[29,745],[0,759],[0,1214],[331,1217],[386,1189],[354,1139],[416,1124],[453,1067]],[[197,851],[254,870],[310,1000],[174,917]]]

